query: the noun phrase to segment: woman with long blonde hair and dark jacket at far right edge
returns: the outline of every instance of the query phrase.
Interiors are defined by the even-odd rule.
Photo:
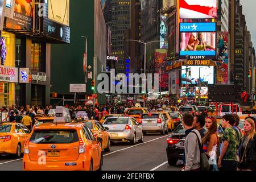
[[[240,171],[256,171],[256,134],[253,119],[245,119],[243,123],[245,135],[242,137],[238,163]]]

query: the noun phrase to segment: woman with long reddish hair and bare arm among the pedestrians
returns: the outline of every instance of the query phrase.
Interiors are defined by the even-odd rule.
[[[217,146],[220,143],[220,140],[218,139],[218,125],[216,118],[213,116],[205,118],[205,127],[208,131],[202,139],[203,150],[209,156],[213,164],[213,171],[217,171]]]

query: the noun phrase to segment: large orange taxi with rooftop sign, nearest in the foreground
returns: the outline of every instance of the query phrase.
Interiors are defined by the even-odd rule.
[[[102,138],[85,123],[67,122],[56,109],[53,123],[36,126],[24,144],[24,171],[96,171],[102,169]]]

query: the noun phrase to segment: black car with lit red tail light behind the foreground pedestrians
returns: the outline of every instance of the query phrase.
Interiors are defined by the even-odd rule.
[[[220,139],[223,136],[223,133],[224,133],[224,130],[220,125],[218,125],[218,137]],[[166,154],[167,154],[168,164],[170,166],[175,166],[177,163],[177,160],[183,159],[184,143],[185,143],[185,129],[181,123],[179,126],[177,126],[174,132],[167,139]],[[218,146],[218,149],[217,149],[217,155],[219,155],[218,154],[219,147],[220,146]]]

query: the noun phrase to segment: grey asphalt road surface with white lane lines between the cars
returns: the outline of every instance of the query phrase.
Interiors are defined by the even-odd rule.
[[[104,152],[103,171],[179,171],[181,161],[169,166],[166,156],[168,135],[149,134],[143,143],[113,143],[110,152]],[[0,156],[0,171],[22,171],[22,159]]]

